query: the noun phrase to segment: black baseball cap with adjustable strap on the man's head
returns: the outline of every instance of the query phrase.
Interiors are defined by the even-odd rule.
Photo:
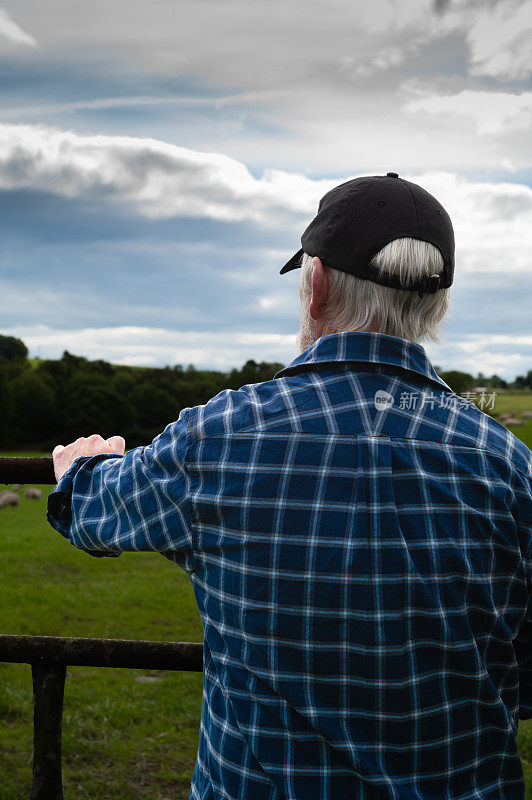
[[[370,268],[376,253],[394,239],[409,237],[435,245],[443,271],[403,285],[396,275]],[[371,175],[335,186],[324,195],[318,213],[301,236],[298,250],[280,275],[301,266],[301,256],[319,256],[324,264],[394,289],[434,294],[453,282],[454,231],[449,214],[417,183],[397,172]]]

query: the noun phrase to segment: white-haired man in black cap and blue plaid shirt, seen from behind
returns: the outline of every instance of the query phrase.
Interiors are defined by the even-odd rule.
[[[524,800],[532,454],[452,393],[451,221],[396,173],[328,192],[300,354],[147,447],[54,450],[48,519],[186,570],[204,628],[195,800]]]

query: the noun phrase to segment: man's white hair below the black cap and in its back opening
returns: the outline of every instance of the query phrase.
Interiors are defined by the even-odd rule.
[[[379,250],[370,263],[381,274],[397,275],[402,282],[410,283],[441,272],[443,256],[428,242],[403,238]],[[424,338],[440,341],[438,328],[449,308],[449,289],[438,289],[421,298],[417,290],[393,289],[332,267],[328,269],[329,294],[321,308],[321,335],[374,330],[412,342]],[[310,302],[311,287],[312,257],[304,253],[299,281],[302,303]]]

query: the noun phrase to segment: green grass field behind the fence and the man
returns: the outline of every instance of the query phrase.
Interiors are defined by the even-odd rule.
[[[528,408],[531,394],[497,396],[499,413]],[[514,432],[531,446],[532,420]],[[77,550],[47,524],[52,487],[41,488],[42,501],[0,511],[0,632],[202,640],[184,572],[155,553],[96,559]],[[65,800],[188,798],[201,694],[198,673],[69,667]],[[29,796],[32,715],[30,667],[0,663],[0,800]],[[532,800],[532,720],[520,723],[518,748]]]

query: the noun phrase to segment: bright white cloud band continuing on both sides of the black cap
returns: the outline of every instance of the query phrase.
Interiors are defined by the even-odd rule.
[[[199,216],[302,231],[336,180],[266,170],[156,139],[80,136],[44,126],[0,125],[0,188],[131,204],[150,218]],[[532,188],[473,182],[451,172],[402,173],[448,209],[461,271],[530,270]],[[110,213],[112,213],[110,211]]]

